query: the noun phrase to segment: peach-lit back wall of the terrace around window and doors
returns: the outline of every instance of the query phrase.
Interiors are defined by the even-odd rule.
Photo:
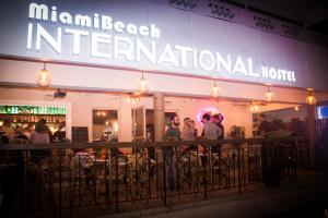
[[[0,87],[0,104],[51,104],[69,105],[71,107],[68,119],[71,126],[87,126],[89,138],[92,140],[92,110],[93,109],[116,109],[119,117],[119,141],[132,140],[131,135],[131,109],[132,107],[144,106],[147,109],[153,108],[152,97],[142,97],[140,104],[131,105],[127,102],[127,95],[114,93],[91,93],[91,92],[68,92],[63,99],[50,97],[54,90],[36,88],[14,88]],[[14,100],[13,100],[14,99]],[[197,120],[197,114],[203,108],[216,108],[224,117],[225,132],[233,124],[244,125],[247,136],[251,136],[251,113],[248,108],[238,107],[234,101],[211,101],[206,99],[191,99],[185,97],[165,97],[166,111],[176,111],[181,120],[189,117]],[[183,125],[183,122],[181,122]],[[197,122],[199,133],[201,123]]]

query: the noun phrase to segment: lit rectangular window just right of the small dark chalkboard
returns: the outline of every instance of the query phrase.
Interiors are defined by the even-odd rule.
[[[93,141],[118,142],[117,110],[93,110]]]

